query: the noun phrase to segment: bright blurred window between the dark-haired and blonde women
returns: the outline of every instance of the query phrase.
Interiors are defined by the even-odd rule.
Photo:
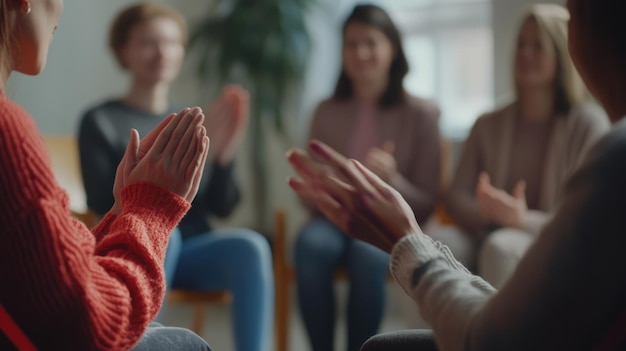
[[[388,0],[411,71],[406,89],[435,100],[442,133],[465,138],[493,106],[493,36],[489,0]]]

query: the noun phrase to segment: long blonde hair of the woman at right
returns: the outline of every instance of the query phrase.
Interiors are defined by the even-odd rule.
[[[522,23],[529,20],[537,23],[542,46],[548,52],[552,52],[557,61],[555,78],[557,111],[567,113],[573,106],[589,101],[591,95],[569,55],[567,46],[569,12],[567,9],[553,4],[532,5],[526,11]],[[517,84],[516,89],[519,91]]]

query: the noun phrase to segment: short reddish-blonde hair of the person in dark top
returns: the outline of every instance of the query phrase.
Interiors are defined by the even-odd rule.
[[[124,63],[120,57],[120,52],[128,42],[130,31],[135,26],[155,18],[168,18],[176,22],[182,33],[183,45],[187,44],[187,22],[180,12],[165,5],[151,2],[132,5],[122,10],[115,17],[109,32],[109,47],[113,50],[121,67],[124,67]]]

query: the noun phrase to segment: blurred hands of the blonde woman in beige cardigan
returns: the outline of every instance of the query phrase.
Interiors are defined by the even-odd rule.
[[[524,228],[528,216],[526,203],[526,182],[517,182],[509,195],[491,185],[487,173],[481,173],[476,186],[476,199],[481,216],[486,222],[501,226]]]

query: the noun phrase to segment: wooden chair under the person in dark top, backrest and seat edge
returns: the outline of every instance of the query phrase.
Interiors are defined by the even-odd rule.
[[[70,197],[72,215],[92,228],[98,218],[87,207],[85,188],[83,186],[78,142],[73,135],[44,135],[44,143],[50,153],[52,170],[57,182]],[[191,329],[201,335],[204,328],[205,308],[209,304],[230,303],[232,297],[226,291],[193,291],[173,289],[169,293],[169,302],[193,305]]]

